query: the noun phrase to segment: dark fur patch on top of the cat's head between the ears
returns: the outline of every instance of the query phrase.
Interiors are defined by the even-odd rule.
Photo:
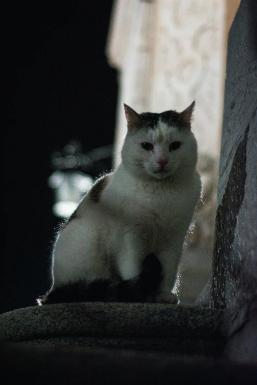
[[[140,114],[140,117],[142,118],[142,123],[140,125],[143,128],[156,128],[160,118],[163,123],[167,123],[170,126],[176,126],[178,129],[188,127],[188,124],[183,121],[181,113],[178,113],[177,111],[164,111],[161,114],[143,112]]]

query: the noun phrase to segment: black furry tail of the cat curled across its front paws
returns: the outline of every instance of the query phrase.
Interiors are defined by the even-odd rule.
[[[37,298],[38,305],[64,302],[152,302],[162,280],[161,264],[154,253],[147,255],[139,276],[127,281],[80,281],[49,291]]]

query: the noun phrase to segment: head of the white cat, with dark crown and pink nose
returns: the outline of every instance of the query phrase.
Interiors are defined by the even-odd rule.
[[[124,104],[128,133],[122,162],[130,174],[164,179],[192,173],[197,162],[197,144],[191,131],[193,108],[194,101],[181,113],[137,114]]]

